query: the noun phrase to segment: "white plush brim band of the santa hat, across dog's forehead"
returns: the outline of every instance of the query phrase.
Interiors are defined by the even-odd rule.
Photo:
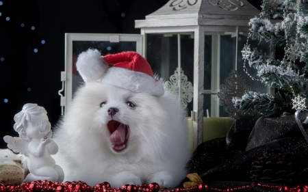
[[[149,74],[125,68],[109,68],[103,79],[101,79],[101,83],[122,87],[132,92],[151,94],[153,96],[164,95],[162,80],[156,81]]]

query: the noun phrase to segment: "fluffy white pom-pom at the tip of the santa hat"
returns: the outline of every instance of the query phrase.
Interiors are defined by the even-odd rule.
[[[89,83],[101,79],[108,69],[108,64],[97,49],[88,49],[78,56],[76,67],[82,79]]]

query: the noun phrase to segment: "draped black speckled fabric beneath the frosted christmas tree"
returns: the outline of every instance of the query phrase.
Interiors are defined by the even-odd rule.
[[[300,113],[301,122],[306,117],[307,113]],[[307,131],[307,124],[303,126]],[[287,169],[292,174],[284,176],[279,173],[281,175],[277,176],[292,178],[287,184],[308,183],[308,143],[294,115],[277,118],[248,113],[234,122],[227,137],[198,146],[188,168],[190,173],[197,173],[207,183],[253,182],[253,162],[264,154],[283,156],[283,163],[290,165]],[[279,168],[285,169],[285,166]],[[274,174],[279,172],[279,168],[274,170]],[[285,180],[275,183],[284,183]]]

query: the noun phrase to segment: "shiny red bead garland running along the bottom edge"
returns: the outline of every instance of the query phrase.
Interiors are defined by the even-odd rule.
[[[49,180],[36,180],[33,182],[25,182],[18,186],[13,185],[3,185],[0,183],[0,192],[40,192],[40,191],[50,191],[50,192],[188,192],[188,191],[223,191],[223,192],[231,192],[231,191],[240,191],[241,189],[247,188],[270,188],[276,189],[277,191],[290,191],[290,192],[308,192],[308,185],[298,185],[296,187],[287,187],[285,185],[271,185],[271,184],[261,184],[259,182],[253,182],[252,184],[246,184],[239,187],[227,188],[227,189],[219,189],[216,187],[209,187],[208,184],[201,183],[198,184],[197,187],[192,187],[190,189],[183,189],[181,187],[177,187],[177,189],[160,189],[159,184],[153,182],[149,185],[141,184],[141,185],[133,185],[133,184],[125,184],[122,188],[112,188],[108,182],[101,182],[97,184],[95,187],[90,187],[86,182],[78,180],[73,182],[52,182]]]

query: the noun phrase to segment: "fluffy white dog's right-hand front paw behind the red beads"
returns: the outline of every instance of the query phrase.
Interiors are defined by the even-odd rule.
[[[172,180],[172,176],[168,172],[157,172],[153,174],[151,180],[149,180],[149,184],[151,182],[157,182],[161,189],[170,189],[176,187],[174,180]]]

